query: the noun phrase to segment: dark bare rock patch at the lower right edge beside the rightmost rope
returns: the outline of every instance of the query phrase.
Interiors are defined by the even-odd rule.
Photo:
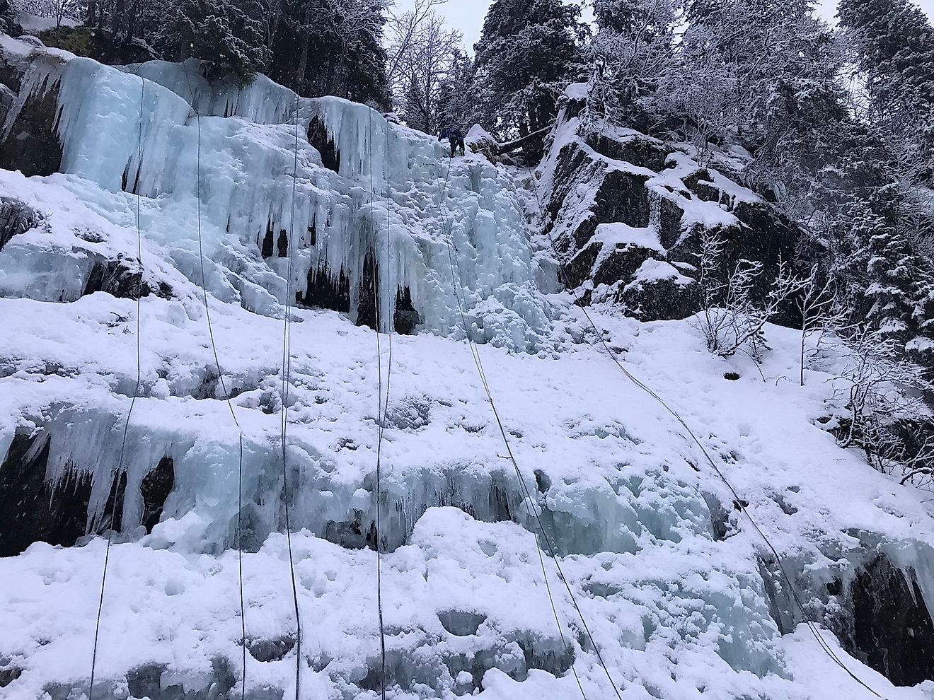
[[[934,679],[934,623],[913,569],[880,554],[850,585],[854,632],[848,647],[895,685]]]

